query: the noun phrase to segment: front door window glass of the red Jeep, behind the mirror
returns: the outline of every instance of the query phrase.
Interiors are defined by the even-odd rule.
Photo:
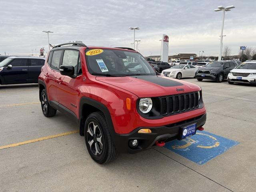
[[[78,72],[78,56],[79,56],[79,51],[65,50],[63,55],[63,60],[62,60],[62,65],[74,67],[75,75]]]

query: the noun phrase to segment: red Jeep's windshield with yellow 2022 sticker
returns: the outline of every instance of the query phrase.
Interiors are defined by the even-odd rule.
[[[90,74],[102,76],[156,75],[139,53],[113,49],[86,49]]]

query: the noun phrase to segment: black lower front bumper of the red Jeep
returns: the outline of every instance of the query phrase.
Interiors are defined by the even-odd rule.
[[[206,113],[200,116],[169,124],[160,127],[139,127],[129,134],[115,134],[116,148],[121,153],[137,153],[156,146],[156,141],[171,141],[180,138],[182,127],[196,123],[196,128],[203,126],[206,122]],[[138,133],[142,128],[149,128],[152,133]],[[129,146],[130,140],[138,140],[138,146],[132,148]]]

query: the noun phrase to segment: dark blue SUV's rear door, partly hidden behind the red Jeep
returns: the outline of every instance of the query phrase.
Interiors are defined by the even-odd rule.
[[[28,61],[28,81],[37,83],[41,68],[44,66],[44,59],[29,59]]]

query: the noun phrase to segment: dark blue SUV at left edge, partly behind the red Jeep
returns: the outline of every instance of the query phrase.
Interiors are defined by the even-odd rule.
[[[0,84],[38,83],[45,58],[8,57],[0,62]]]

